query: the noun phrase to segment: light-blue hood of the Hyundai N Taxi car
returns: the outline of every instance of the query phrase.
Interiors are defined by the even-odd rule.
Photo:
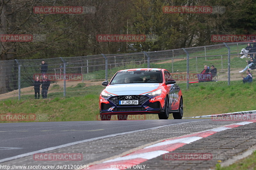
[[[159,85],[159,83],[131,83],[108,85],[105,91],[116,95],[139,95],[142,93],[147,93],[156,90],[159,87]]]

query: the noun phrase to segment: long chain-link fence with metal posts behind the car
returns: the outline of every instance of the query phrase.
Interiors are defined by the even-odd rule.
[[[187,89],[206,81],[230,85],[230,81],[241,81],[241,74],[246,77],[248,68],[254,72],[255,64],[250,59],[255,58],[254,53],[256,43],[251,41],[154,52],[0,61],[0,100],[33,99],[36,78],[42,84],[44,75],[51,83],[47,98],[82,95],[94,89],[88,86],[100,86],[116,71],[129,68],[167,69],[178,83],[186,83]],[[216,73],[207,74],[214,68]]]

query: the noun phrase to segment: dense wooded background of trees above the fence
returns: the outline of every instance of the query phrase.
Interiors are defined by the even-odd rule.
[[[167,14],[163,6],[225,6],[223,14]],[[35,14],[35,6],[95,6],[94,14]],[[0,0],[0,34],[44,41],[0,42],[0,60],[157,51],[216,44],[212,34],[255,34],[255,0]],[[97,34],[145,34],[145,42],[98,42]],[[128,45],[129,46],[129,45]]]

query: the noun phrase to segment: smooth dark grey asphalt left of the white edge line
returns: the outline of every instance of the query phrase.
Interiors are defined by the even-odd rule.
[[[95,137],[198,120],[1,123],[0,150],[4,154],[0,154],[0,160]]]

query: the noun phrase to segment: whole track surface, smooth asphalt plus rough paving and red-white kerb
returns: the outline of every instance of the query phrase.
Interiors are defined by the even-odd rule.
[[[30,122],[0,124],[0,166],[46,169],[214,169],[256,149],[256,121],[212,119]],[[82,154],[81,160],[35,159],[38,154]],[[208,154],[173,160],[166,154]],[[166,159],[167,158],[167,159]],[[234,160],[232,160],[234,159]],[[73,166],[73,167],[72,167]],[[11,168],[10,168],[11,169]],[[34,168],[45,169],[45,168]],[[80,168],[81,169],[81,168]]]

